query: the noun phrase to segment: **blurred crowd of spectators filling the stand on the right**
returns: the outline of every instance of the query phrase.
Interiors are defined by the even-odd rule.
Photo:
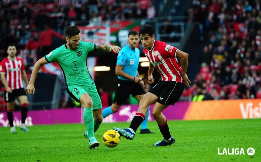
[[[260,7],[260,0],[193,1],[189,15],[207,44],[199,54],[200,72],[184,97],[192,101],[261,98]]]

